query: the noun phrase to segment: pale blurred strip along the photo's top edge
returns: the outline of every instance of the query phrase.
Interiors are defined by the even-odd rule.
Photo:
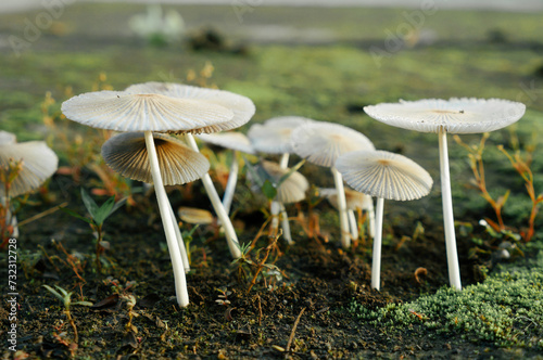
[[[399,7],[418,8],[435,3],[440,9],[481,9],[498,11],[543,11],[543,0],[0,0],[0,13],[39,9],[43,3],[137,2],[164,4],[250,4],[288,7]]]

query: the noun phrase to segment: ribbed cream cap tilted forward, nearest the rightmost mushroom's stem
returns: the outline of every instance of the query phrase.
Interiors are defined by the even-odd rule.
[[[336,168],[354,190],[371,196],[408,201],[428,195],[430,175],[414,160],[387,151],[357,151],[344,154]]]

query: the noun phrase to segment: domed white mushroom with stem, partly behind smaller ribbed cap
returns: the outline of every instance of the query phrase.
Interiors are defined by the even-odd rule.
[[[333,123],[313,123],[302,125],[292,131],[294,152],[310,163],[329,167],[338,191],[338,207],[341,229],[341,244],[351,246],[349,220],[346,215],[345,191],[341,173],[334,168],[336,159],[357,150],[375,150],[374,144],[358,131]]]

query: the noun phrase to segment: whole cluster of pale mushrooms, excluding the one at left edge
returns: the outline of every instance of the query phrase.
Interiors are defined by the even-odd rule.
[[[498,129],[518,120],[525,106],[501,100],[451,99],[380,104],[366,106],[365,111],[386,124],[440,133],[447,262],[451,285],[459,290],[445,134],[447,131],[462,133]],[[202,179],[225,228],[230,253],[239,258],[238,239],[228,217],[239,167],[238,153],[281,155],[279,164],[262,160],[260,167],[277,187],[277,195],[272,203],[272,226],[277,228],[279,219],[282,219],[283,236],[289,243],[293,241],[283,204],[303,200],[308,189],[308,182],[301,173],[289,171],[289,155],[298,154],[310,163],[329,167],[336,190],[324,190],[323,194],[339,210],[342,246],[348,248],[351,239],[358,236],[354,215],[349,215],[350,209],[363,207],[368,210],[370,219],[375,217],[375,224],[370,222],[369,227],[371,236],[375,236],[371,279],[375,288],[379,288],[383,200],[419,198],[427,195],[432,187],[431,177],[416,163],[402,155],[377,151],[364,134],[339,124],[279,117],[253,125],[247,137],[240,132],[213,133],[244,125],[255,112],[251,100],[227,91],[147,82],[130,86],[124,91],[99,91],[74,97],[62,104],[62,112],[80,124],[124,132],[103,145],[102,155],[123,176],[154,183],[180,306],[189,304],[185,279],[189,263],[164,185]],[[188,146],[168,133],[184,134]],[[192,133],[202,133],[199,136],[202,141],[232,151],[230,175],[222,201],[207,173],[210,164],[199,153]],[[290,175],[287,180],[286,175]],[[343,178],[362,194],[345,190]],[[349,205],[345,194],[353,198]],[[378,198],[376,216],[370,196]],[[278,216],[279,213],[282,213],[281,216]]]

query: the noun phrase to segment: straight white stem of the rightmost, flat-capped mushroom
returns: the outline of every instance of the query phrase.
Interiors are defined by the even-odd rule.
[[[456,254],[456,236],[454,232],[453,197],[451,194],[451,176],[449,173],[449,151],[446,131],[439,132],[441,196],[443,202],[443,221],[445,227],[446,262],[449,265],[449,281],[451,286],[462,290],[458,255]]]

